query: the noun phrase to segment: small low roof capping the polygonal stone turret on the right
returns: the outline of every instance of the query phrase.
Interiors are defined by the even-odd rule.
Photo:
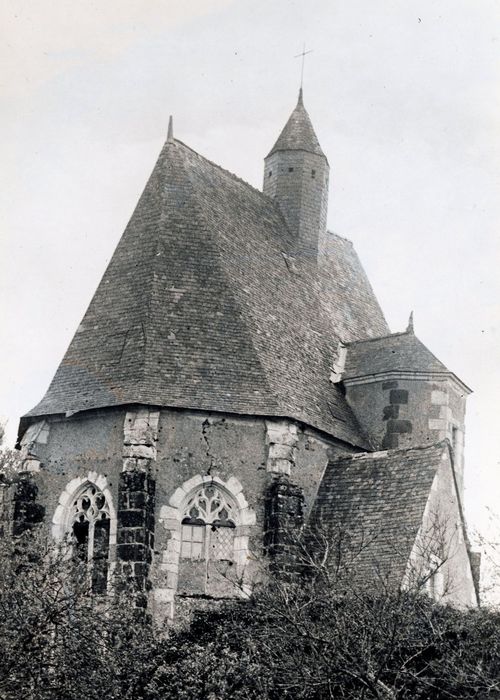
[[[411,330],[347,345],[344,380],[385,372],[452,374]]]

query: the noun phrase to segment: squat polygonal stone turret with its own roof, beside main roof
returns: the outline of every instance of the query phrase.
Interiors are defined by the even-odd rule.
[[[347,343],[346,350],[346,398],[373,447],[401,449],[448,438],[462,494],[471,390],[415,336],[413,314],[406,332]]]

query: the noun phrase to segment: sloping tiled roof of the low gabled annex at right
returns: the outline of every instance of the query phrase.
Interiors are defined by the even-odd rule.
[[[401,582],[446,442],[329,462],[311,522],[349,538],[363,577]]]

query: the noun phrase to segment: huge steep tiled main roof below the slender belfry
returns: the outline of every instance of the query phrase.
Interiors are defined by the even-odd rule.
[[[43,400],[287,416],[364,446],[329,374],[338,339],[387,332],[352,245],[294,259],[275,203],[165,144]]]

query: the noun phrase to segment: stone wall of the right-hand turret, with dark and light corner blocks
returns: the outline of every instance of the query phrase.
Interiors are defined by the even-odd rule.
[[[346,383],[346,395],[375,449],[429,445],[448,438],[463,490],[465,394],[452,380],[374,379]]]

